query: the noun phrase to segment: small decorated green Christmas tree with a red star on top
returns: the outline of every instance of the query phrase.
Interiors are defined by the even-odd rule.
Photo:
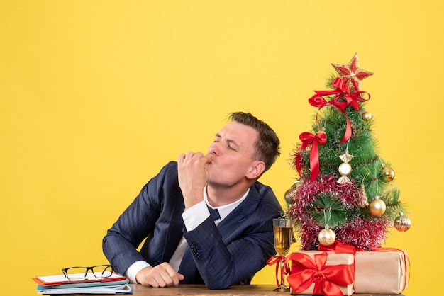
[[[409,217],[392,186],[394,170],[377,154],[370,94],[360,81],[372,72],[360,69],[355,55],[349,64],[332,64],[338,75],[329,90],[309,98],[318,108],[312,132],[302,132],[293,165],[299,178],[285,193],[287,215],[301,238],[301,249],[337,239],[358,249],[381,246],[394,226],[408,230]]]

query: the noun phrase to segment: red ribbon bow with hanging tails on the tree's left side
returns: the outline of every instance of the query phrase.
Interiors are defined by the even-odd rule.
[[[298,171],[299,176],[301,176],[301,150],[311,145],[310,171],[311,181],[313,182],[319,175],[318,144],[326,144],[327,135],[325,132],[317,132],[316,135],[313,135],[311,132],[302,132],[301,135],[299,135],[299,139],[301,140],[302,144],[301,148],[299,148],[299,152],[296,154],[294,165],[296,166],[296,170]]]

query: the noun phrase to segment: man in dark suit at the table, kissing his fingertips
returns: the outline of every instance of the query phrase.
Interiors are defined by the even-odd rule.
[[[257,179],[279,156],[279,138],[250,113],[230,119],[206,154],[164,166],[108,230],[104,254],[131,282],[223,289],[250,283],[274,256],[282,207]]]

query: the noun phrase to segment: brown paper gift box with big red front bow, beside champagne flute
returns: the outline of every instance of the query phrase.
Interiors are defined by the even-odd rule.
[[[311,258],[312,263],[316,264],[316,258],[315,255],[323,255],[327,256],[324,266],[326,268],[321,268],[321,266],[313,266],[313,268],[306,268],[306,270],[303,272],[305,275],[301,275],[301,270],[305,267],[301,267],[302,261],[294,260],[295,255],[294,254],[305,254]],[[307,274],[309,273],[319,273],[320,271],[324,273],[323,278],[326,278],[326,280],[330,283],[327,283],[328,285],[334,285],[340,289],[337,290],[338,293],[331,294],[332,290],[324,291],[321,294],[325,295],[352,295],[353,294],[353,254],[334,254],[333,252],[325,252],[325,251],[297,251],[294,252],[294,254],[290,254],[287,256],[287,260],[291,260],[290,264],[290,273],[287,277],[287,281],[290,284],[290,292],[292,294],[302,294],[302,295],[313,295],[313,292],[315,290],[315,283],[312,281],[312,283],[309,285],[306,290],[299,291],[301,285],[301,279],[307,278]],[[301,255],[297,255],[298,258],[301,257]],[[325,257],[324,257],[325,258]],[[305,260],[304,260],[305,261]],[[346,285],[338,285],[336,280],[334,278],[328,278],[329,275],[332,275],[335,272],[331,272],[331,270],[328,270],[328,266],[332,266],[335,268],[340,268],[342,270],[342,276],[340,276],[340,281],[347,281],[348,278],[348,284]],[[330,268],[331,269],[331,268]],[[335,273],[338,274],[337,272]],[[318,274],[315,275],[318,277]],[[307,280],[309,282],[311,280]],[[294,285],[292,285],[292,283]],[[297,285],[297,287],[296,287]],[[325,287],[325,285],[324,285]]]

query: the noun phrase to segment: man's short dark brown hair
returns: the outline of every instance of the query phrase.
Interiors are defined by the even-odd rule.
[[[256,152],[252,158],[265,162],[264,172],[270,169],[281,154],[279,152],[280,141],[276,132],[267,123],[255,118],[251,113],[233,112],[230,115],[230,119],[257,130],[259,136],[255,143]]]

